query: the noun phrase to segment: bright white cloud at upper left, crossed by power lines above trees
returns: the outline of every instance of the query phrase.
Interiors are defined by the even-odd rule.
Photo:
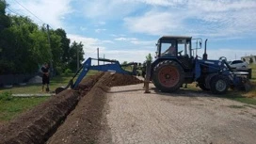
[[[27,8],[33,14],[35,14],[38,18],[33,16],[30,12],[20,6],[15,1],[8,1],[10,4],[10,8],[15,9],[19,13],[23,13],[25,16],[29,16],[32,20],[37,22],[37,24],[50,24],[53,28],[63,27],[65,24],[63,20],[65,20],[65,15],[72,12],[72,8],[70,6],[72,0],[24,0],[18,1],[24,8]]]

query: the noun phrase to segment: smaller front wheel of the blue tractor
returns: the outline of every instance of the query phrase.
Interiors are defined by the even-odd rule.
[[[225,75],[216,75],[211,79],[210,88],[214,94],[225,94],[230,88],[229,79]]]

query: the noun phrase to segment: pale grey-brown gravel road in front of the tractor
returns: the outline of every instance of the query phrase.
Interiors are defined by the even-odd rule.
[[[256,106],[185,89],[161,93],[152,85],[144,94],[142,86],[107,93],[108,143],[256,143]]]

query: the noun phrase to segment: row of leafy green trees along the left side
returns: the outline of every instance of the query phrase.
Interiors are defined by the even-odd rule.
[[[7,7],[0,0],[0,74],[37,72],[44,62],[52,64],[57,73],[76,71],[77,51],[80,65],[84,60],[82,42],[71,44],[64,29],[47,31],[45,25],[28,17],[7,14]]]

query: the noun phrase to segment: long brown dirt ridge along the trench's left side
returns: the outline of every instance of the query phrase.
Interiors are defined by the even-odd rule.
[[[87,93],[102,75],[103,73],[98,73],[85,78],[84,84],[79,88],[85,88],[83,93]],[[44,143],[55,133],[56,127],[65,120],[79,99],[78,91],[67,89],[60,92],[49,101],[0,127],[0,143]]]

